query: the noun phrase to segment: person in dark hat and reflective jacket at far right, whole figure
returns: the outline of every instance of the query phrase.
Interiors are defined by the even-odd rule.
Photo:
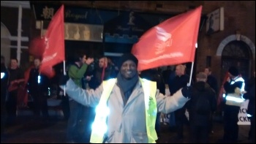
[[[244,102],[244,79],[239,76],[236,67],[228,69],[229,77],[224,83],[224,136],[223,143],[236,143],[238,140],[238,113],[241,103]]]

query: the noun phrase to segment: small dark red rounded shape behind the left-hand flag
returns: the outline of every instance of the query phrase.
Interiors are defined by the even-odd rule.
[[[31,40],[29,45],[29,53],[35,57],[42,57],[42,53],[45,51],[45,39],[42,37],[36,37]]]

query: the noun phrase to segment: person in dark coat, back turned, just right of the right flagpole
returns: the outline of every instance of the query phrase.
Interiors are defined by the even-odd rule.
[[[196,76],[197,82],[192,86],[192,97],[188,102],[189,110],[189,126],[191,129],[192,143],[209,143],[209,133],[211,123],[211,115],[217,110],[216,93],[211,86],[206,83],[207,75],[204,72],[199,72]],[[204,96],[209,102],[209,111],[201,114],[196,110],[197,101]]]

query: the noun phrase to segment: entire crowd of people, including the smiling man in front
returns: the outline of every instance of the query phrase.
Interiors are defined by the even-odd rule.
[[[48,120],[48,88],[52,83],[60,86],[57,94],[67,120],[67,143],[154,143],[161,138],[162,114],[172,115],[170,131],[176,132],[176,140],[184,139],[184,125],[191,130],[192,143],[209,143],[214,133],[219,86],[211,67],[197,72],[188,86],[184,64],[168,66],[163,72],[159,68],[138,72],[138,59],[131,53],[121,56],[116,64],[106,56],[77,53],[67,61],[67,75],[62,75],[63,67],[56,69],[55,81],[39,72],[40,64],[41,59],[34,58],[33,67],[23,72],[16,58],[6,67],[1,56],[1,134],[5,126],[15,124],[20,87],[31,96],[34,118]],[[236,67],[230,67],[228,74],[220,104],[224,112],[220,142],[237,142],[238,113],[244,99],[249,99],[248,137],[255,143],[255,75],[244,80]]]

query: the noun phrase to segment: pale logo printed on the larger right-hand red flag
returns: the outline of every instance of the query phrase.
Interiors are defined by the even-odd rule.
[[[167,33],[165,29],[162,29],[159,26],[155,26],[157,29],[157,42],[155,43],[155,47],[157,48],[155,53],[160,54],[165,52],[165,48],[168,48],[172,45],[173,39],[171,39],[172,34]]]

